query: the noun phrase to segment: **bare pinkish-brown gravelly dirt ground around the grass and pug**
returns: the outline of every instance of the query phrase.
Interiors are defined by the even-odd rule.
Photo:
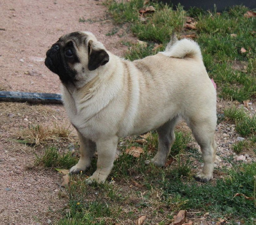
[[[1,0],[0,90],[60,93],[60,80],[44,65],[45,52],[61,35],[91,31],[106,48],[123,56],[122,40],[136,38],[113,26],[102,0]],[[113,34],[115,29],[115,35]],[[122,36],[122,38],[120,38]],[[223,113],[227,102],[218,102]],[[249,109],[253,114],[256,106]],[[52,170],[29,169],[33,148],[17,142],[19,130],[31,125],[68,124],[62,105],[0,102],[0,224],[51,224],[61,217],[67,199],[59,198],[60,175]],[[217,127],[219,166],[223,155],[233,155],[238,135],[234,125]],[[238,156],[237,156],[238,158]],[[252,155],[239,159],[252,161]],[[237,160],[239,160],[237,159]]]

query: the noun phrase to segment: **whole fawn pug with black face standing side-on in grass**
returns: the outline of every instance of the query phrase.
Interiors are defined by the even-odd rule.
[[[60,77],[63,104],[77,130],[81,157],[71,174],[97,169],[88,183],[105,182],[115,160],[118,138],[158,133],[155,157],[164,166],[183,118],[200,145],[204,167],[195,176],[212,179],[216,143],[216,90],[193,40],[172,40],[163,52],[135,61],[115,56],[90,32],[61,36],[47,51],[45,65]]]

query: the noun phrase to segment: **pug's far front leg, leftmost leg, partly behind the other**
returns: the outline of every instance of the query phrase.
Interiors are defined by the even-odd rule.
[[[90,167],[93,154],[96,150],[96,144],[93,141],[83,137],[83,135],[78,130],[77,134],[80,143],[81,156],[77,164],[69,170],[70,174],[81,173],[81,171],[85,171],[88,167]]]

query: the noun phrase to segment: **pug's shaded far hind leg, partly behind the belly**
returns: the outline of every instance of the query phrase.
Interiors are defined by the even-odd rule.
[[[147,160],[146,164],[153,162],[156,166],[164,166],[166,159],[170,153],[172,144],[175,141],[175,125],[179,117],[175,117],[167,121],[161,127],[157,128],[158,134],[158,151],[152,160]]]

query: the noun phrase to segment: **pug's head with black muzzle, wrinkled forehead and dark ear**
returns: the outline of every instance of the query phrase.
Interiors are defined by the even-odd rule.
[[[58,74],[63,84],[86,79],[86,74],[105,65],[109,55],[90,32],[61,36],[46,53],[45,65]]]

